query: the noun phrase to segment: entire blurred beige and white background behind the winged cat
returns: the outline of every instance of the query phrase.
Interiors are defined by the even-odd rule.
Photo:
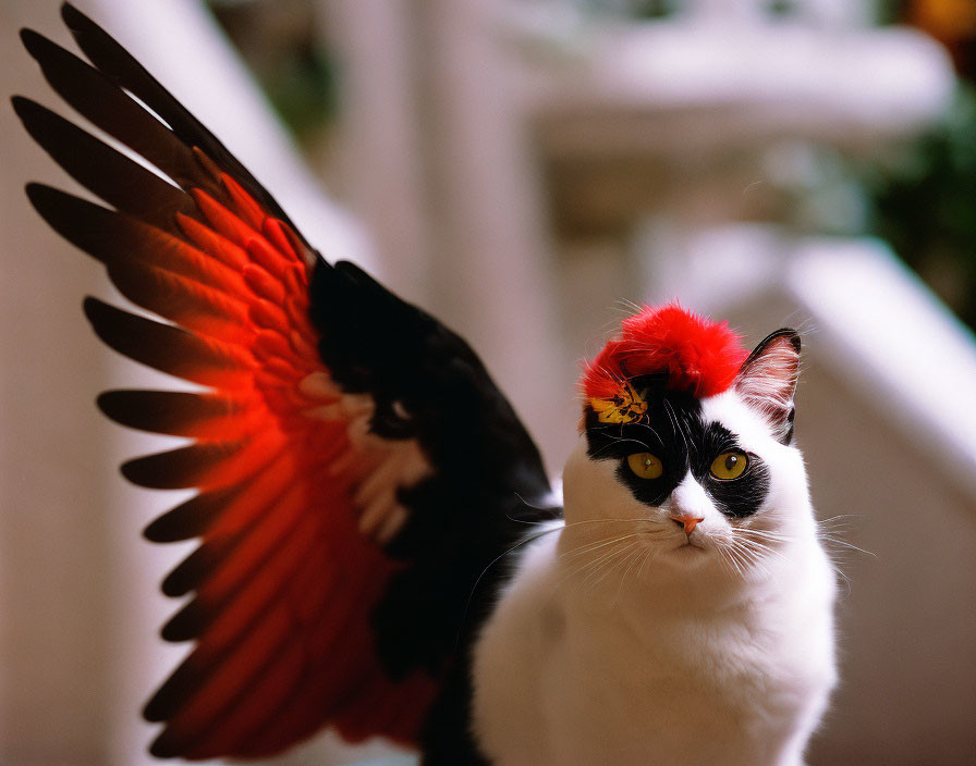
[[[797,438],[838,564],[842,682],[810,764],[976,763],[976,2],[87,0],[329,259],[466,336],[558,475],[578,361],[674,297],[804,333]],[[0,0],[0,82],[66,113]],[[83,321],[112,297],[22,187],[0,116],[0,763],[150,763],[185,647],[157,583],[163,440],[93,399],[158,384]],[[276,763],[388,759],[326,736]],[[393,756],[394,761],[396,756]],[[406,763],[410,763],[406,761]]]

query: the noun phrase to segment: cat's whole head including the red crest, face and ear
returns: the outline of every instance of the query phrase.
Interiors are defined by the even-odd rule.
[[[678,306],[626,320],[584,373],[566,555],[595,570],[768,573],[813,533],[792,446],[800,347],[779,330],[749,354],[727,324]]]

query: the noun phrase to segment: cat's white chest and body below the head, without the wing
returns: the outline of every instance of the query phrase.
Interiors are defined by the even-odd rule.
[[[574,589],[559,560],[551,540],[527,554],[476,647],[474,727],[492,764],[800,762],[833,678],[829,614],[809,593],[663,607],[646,584]]]

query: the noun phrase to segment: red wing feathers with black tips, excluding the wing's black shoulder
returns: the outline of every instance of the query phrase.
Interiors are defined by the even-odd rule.
[[[123,467],[143,486],[198,490],[146,530],[202,539],[163,583],[194,593],[163,638],[197,643],[146,706],[166,722],[152,752],[265,755],[328,721],[353,739],[415,741],[436,687],[419,672],[393,683],[376,658],[370,610],[395,565],[359,531],[355,497],[366,527],[389,536],[402,522],[396,482],[420,478],[423,456],[370,437],[368,397],[331,384],[308,319],[316,256],[270,196],[118,44],[70,7],[64,17],[98,69],[25,32],[46,77],[173,183],[17,98],[34,138],[114,209],[40,185],[28,195],[126,298],[167,320],[89,298],[98,336],[207,388],[99,398],[122,424],[193,440]]]

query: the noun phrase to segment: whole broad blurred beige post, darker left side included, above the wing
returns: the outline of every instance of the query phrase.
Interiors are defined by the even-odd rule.
[[[346,185],[391,286],[472,343],[558,471],[574,370],[557,361],[545,206],[505,79],[499,3],[325,7],[347,77]]]

